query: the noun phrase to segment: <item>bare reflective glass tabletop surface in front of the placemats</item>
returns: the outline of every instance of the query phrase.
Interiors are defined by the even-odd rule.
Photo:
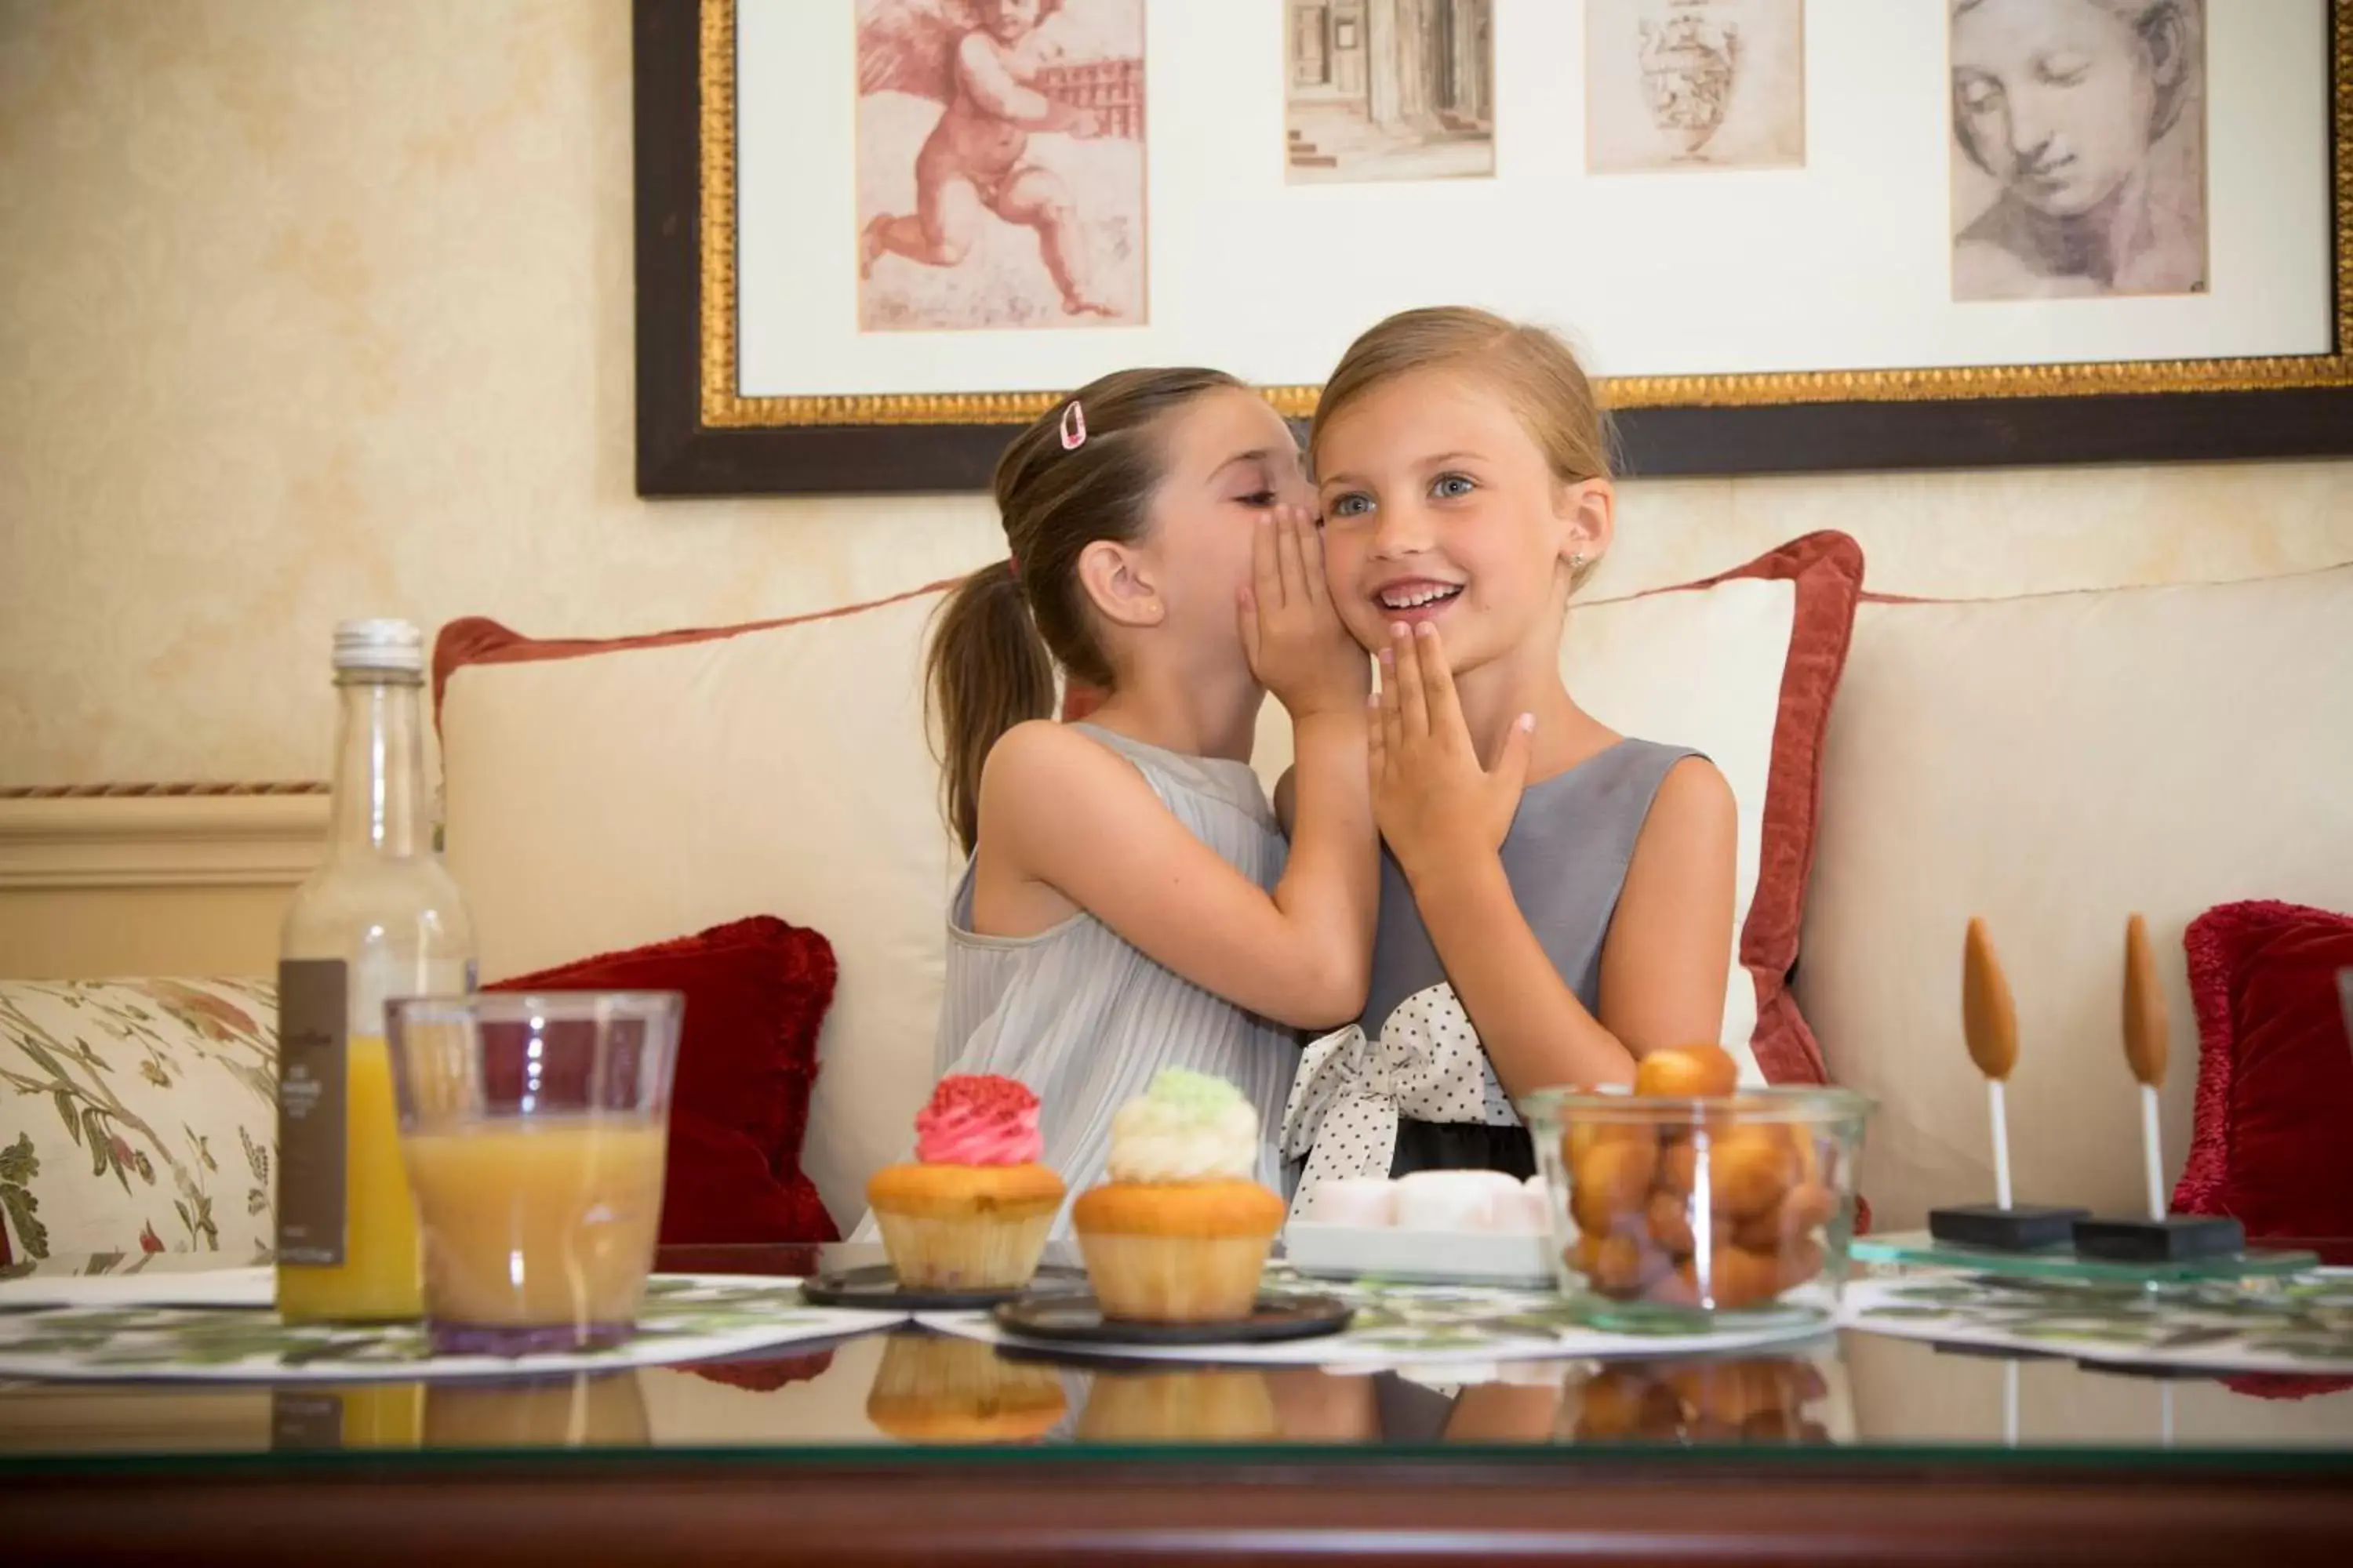
[[[661,1269],[779,1276],[875,1260],[852,1246],[664,1248]],[[539,1380],[0,1385],[0,1476],[487,1450],[861,1465],[1264,1450],[2353,1472],[2353,1378],[2146,1375],[1857,1331],[1713,1356],[1327,1371],[1047,1356],[889,1326]]]

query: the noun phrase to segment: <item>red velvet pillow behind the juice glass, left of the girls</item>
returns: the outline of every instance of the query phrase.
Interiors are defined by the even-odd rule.
[[[671,1091],[661,1241],[838,1241],[800,1171],[833,945],[755,914],[485,990],[673,990],[687,999]]]

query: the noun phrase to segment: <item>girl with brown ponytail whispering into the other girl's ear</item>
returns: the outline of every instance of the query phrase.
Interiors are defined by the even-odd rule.
[[[1294,1027],[1362,1009],[1377,898],[1372,672],[1297,440],[1233,376],[1120,371],[1014,437],[995,498],[1007,559],[955,588],[929,651],[972,853],[936,1067],[1028,1084],[1073,1194],[1122,1100],[1212,1072],[1259,1110],[1280,1187]],[[1104,693],[1085,722],[1052,722],[1056,668]],[[1289,844],[1249,771],[1268,691],[1299,745]]]

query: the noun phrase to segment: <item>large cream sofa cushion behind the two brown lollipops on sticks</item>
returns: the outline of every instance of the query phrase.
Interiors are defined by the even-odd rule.
[[[1833,1077],[1880,1103],[1861,1168],[1880,1227],[1991,1199],[1960,1041],[1972,914],[2019,1006],[2019,1199],[2129,1213],[2125,919],[2148,917],[2172,1004],[2172,1180],[2198,1063],[2181,931],[2233,898],[2353,910],[2353,567],[1866,602],[1831,715],[1798,999]]]

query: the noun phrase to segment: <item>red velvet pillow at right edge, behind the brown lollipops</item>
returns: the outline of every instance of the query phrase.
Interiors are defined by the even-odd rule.
[[[2198,1001],[2198,1117],[2174,1208],[2249,1237],[2353,1237],[2353,1041],[2337,971],[2353,917],[2226,903],[2181,945]]]

